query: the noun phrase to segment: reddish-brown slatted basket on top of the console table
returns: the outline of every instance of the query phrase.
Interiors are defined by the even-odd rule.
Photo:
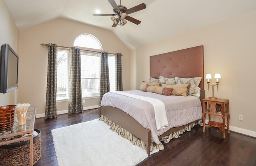
[[[14,111],[16,105],[6,105],[0,107],[0,132],[12,130],[14,125]]]

